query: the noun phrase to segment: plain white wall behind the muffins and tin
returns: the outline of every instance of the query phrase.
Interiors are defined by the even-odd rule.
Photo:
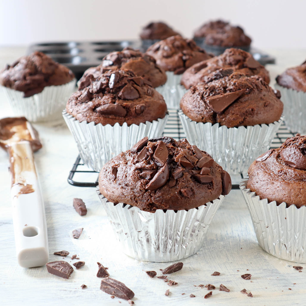
[[[306,48],[305,0],[0,0],[0,45],[135,39],[163,20],[191,37],[210,19],[240,24],[253,46]]]

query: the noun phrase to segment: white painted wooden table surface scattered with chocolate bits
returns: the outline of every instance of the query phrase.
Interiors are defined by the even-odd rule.
[[[306,57],[303,50],[266,51],[278,58],[277,65],[267,67],[271,84],[277,73],[301,63]],[[13,62],[24,52],[23,47],[0,48],[0,66]],[[0,98],[0,118],[12,115],[6,100]],[[109,267],[112,278],[134,291],[137,306],[306,304],[306,269],[298,273],[292,268],[294,263],[277,259],[259,247],[239,190],[232,190],[226,196],[200,252],[183,260],[183,269],[169,276],[178,282],[177,286],[169,287],[156,277],[149,278],[143,270],[155,270],[159,275],[159,269],[169,264],[140,262],[121,253],[95,188],[73,187],[67,183],[77,149],[64,121],[35,124],[35,127],[43,141],[43,148],[35,153],[35,161],[46,207],[50,261],[62,259],[53,252],[67,250],[70,254],[66,261],[71,262],[70,256],[77,254],[86,264],[74,270],[69,280],[49,274],[45,266],[24,269],[17,265],[8,158],[0,151],[0,305],[118,305],[118,298],[111,299],[99,289],[97,261]],[[74,211],[73,197],[84,200],[88,208],[86,216],[81,217]],[[84,231],[80,239],[73,239],[71,232],[79,227]],[[214,271],[221,275],[211,276]],[[252,274],[252,282],[241,278],[245,273]],[[212,290],[212,297],[204,300],[207,289],[193,285],[208,283],[217,289]],[[218,290],[221,283],[230,289],[229,293]],[[82,284],[88,287],[82,290]],[[251,291],[253,297],[240,293],[244,288]],[[170,289],[169,296],[164,295],[166,289]],[[196,297],[189,297],[191,293]],[[125,300],[121,302],[129,305]]]

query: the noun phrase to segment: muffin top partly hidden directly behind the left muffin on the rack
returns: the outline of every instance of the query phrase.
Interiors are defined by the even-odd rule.
[[[103,58],[101,65],[88,68],[81,77],[80,84],[88,74],[92,74],[96,78],[111,69],[131,69],[136,76],[142,76],[150,81],[153,87],[161,86],[167,80],[165,71],[156,65],[152,56],[126,47],[122,51],[114,51],[107,54]]]

